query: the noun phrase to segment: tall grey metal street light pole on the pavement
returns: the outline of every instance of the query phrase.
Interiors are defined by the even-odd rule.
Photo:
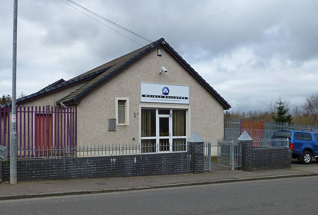
[[[12,117],[10,132],[10,184],[17,184],[17,131],[16,131],[16,83],[17,83],[17,19],[18,0],[13,3],[13,48],[12,48]]]

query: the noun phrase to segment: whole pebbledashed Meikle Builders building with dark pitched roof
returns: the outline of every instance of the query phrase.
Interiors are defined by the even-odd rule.
[[[194,131],[216,146],[224,136],[223,112],[231,107],[163,38],[68,81],[60,79],[18,99],[17,104],[76,106],[76,147],[149,146],[142,152],[180,151],[175,145],[185,142]],[[2,142],[6,136],[4,116]],[[39,121],[49,120],[47,126],[52,124],[53,135],[58,135],[57,124],[51,122],[56,117],[53,113],[47,117]],[[27,133],[40,135],[32,126]],[[24,138],[18,139],[21,148],[25,134],[20,138]],[[47,138],[40,141],[41,149]],[[35,142],[32,137],[32,147],[38,148]],[[47,143],[56,147],[53,138]],[[216,147],[212,148],[212,155],[216,153]]]

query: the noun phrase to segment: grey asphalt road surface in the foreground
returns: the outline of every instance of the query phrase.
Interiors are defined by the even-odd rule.
[[[315,214],[318,177],[0,201],[0,214]]]

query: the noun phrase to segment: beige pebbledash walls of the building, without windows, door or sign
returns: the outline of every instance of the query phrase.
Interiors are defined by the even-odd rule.
[[[199,131],[204,140],[211,141],[212,155],[217,155],[217,140],[224,136],[223,106],[163,47],[157,48],[162,49],[161,57],[157,56],[156,50],[150,51],[77,104],[78,145],[140,143],[142,107],[184,108],[188,110],[187,138],[193,131]],[[167,68],[168,72],[159,75],[161,66]],[[190,104],[140,102],[141,82],[189,86]],[[53,101],[61,99],[76,87],[61,90],[59,94],[54,94],[54,99],[50,94],[24,105],[53,104]],[[129,125],[117,125],[116,131],[108,131],[108,118],[116,118],[115,97],[129,98]],[[135,117],[135,113],[139,115]]]

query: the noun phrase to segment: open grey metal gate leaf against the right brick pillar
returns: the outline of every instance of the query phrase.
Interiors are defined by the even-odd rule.
[[[223,139],[218,140],[218,165],[230,167],[242,166],[242,148],[238,141]]]

